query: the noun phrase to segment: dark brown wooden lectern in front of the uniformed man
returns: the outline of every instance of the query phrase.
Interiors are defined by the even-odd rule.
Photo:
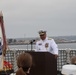
[[[28,52],[33,57],[30,75],[57,75],[57,59],[49,52]]]

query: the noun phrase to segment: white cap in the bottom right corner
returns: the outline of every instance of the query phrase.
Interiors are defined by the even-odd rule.
[[[62,66],[61,73],[64,75],[76,75],[76,65],[68,64]]]

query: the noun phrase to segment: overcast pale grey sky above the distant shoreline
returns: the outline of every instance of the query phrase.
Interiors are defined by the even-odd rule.
[[[76,0],[0,0],[7,38],[76,35]]]

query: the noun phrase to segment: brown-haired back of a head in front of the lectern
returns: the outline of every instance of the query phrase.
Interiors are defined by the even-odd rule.
[[[18,71],[16,75],[27,75],[32,66],[32,56],[29,53],[22,53],[17,57]]]

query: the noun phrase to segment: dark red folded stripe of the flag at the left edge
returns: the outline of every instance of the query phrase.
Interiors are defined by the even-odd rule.
[[[1,31],[2,31],[2,41],[3,41],[2,51],[3,51],[3,55],[5,55],[6,49],[7,49],[7,43],[6,43],[6,35],[5,35],[5,28],[4,28],[2,12],[0,12],[0,26],[1,26]]]

